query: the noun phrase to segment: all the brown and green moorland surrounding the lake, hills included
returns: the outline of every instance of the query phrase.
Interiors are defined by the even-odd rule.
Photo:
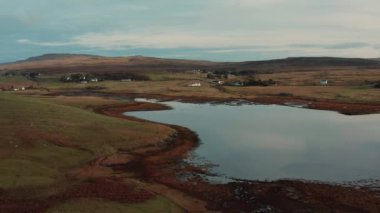
[[[296,180],[181,180],[186,127],[124,116],[135,98],[380,112],[380,60],[211,62],[48,54],[0,65],[0,212],[378,212],[379,192]]]

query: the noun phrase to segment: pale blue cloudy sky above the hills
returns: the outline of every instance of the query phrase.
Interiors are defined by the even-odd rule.
[[[379,0],[0,0],[0,63],[47,53],[380,57]]]

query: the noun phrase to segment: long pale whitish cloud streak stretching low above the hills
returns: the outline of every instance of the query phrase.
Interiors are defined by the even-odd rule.
[[[254,32],[234,32],[234,33],[212,33],[212,32],[192,32],[175,31],[162,29],[149,29],[142,32],[105,32],[105,33],[85,33],[73,36],[66,41],[33,41],[30,39],[17,40],[20,44],[40,45],[40,46],[70,46],[79,45],[89,48],[100,49],[123,49],[123,48],[214,48],[216,52],[247,51],[254,48],[302,48],[302,49],[356,49],[364,47],[374,47],[369,42],[340,42],[342,33],[327,34],[329,43],[321,44],[318,41],[320,36],[313,31],[284,31],[281,37],[276,32],[263,31]],[[300,36],[296,37],[295,36]],[[293,41],[304,41],[296,43]]]

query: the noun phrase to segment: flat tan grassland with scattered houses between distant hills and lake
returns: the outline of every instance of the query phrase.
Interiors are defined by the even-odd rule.
[[[50,92],[69,91],[97,91],[114,94],[153,94],[173,97],[198,96],[205,98],[255,98],[261,96],[277,96],[290,94],[305,99],[328,99],[343,102],[370,102],[379,103],[379,90],[371,86],[371,82],[380,81],[378,70],[316,70],[303,72],[280,72],[272,74],[258,74],[257,79],[273,79],[275,86],[260,87],[228,87],[217,88],[204,73],[183,72],[147,72],[151,81],[102,81],[97,83],[79,84],[63,83],[59,76],[43,76],[37,82],[30,81],[23,76],[2,77],[1,85],[29,85],[35,84]],[[5,79],[6,78],[6,79]],[[11,79],[11,80],[10,80]],[[236,80],[244,77],[238,77]],[[319,81],[328,79],[327,86],[321,86]],[[229,79],[233,81],[234,78]],[[200,82],[201,87],[189,87],[194,82]],[[95,90],[94,90],[95,88]],[[45,90],[23,91],[24,94],[43,94]],[[61,98],[63,99],[63,98]],[[58,103],[59,100],[57,100]],[[73,102],[66,98],[66,101]],[[97,102],[88,100],[89,103]],[[85,103],[82,101],[82,103]],[[100,104],[100,103],[98,103]],[[83,106],[85,107],[85,106]]]

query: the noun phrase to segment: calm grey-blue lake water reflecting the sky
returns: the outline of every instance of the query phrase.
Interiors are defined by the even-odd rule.
[[[345,116],[276,105],[165,102],[173,110],[128,115],[197,132],[192,159],[217,164],[213,172],[264,180],[380,179],[380,115]],[[197,162],[198,161],[198,162]]]

